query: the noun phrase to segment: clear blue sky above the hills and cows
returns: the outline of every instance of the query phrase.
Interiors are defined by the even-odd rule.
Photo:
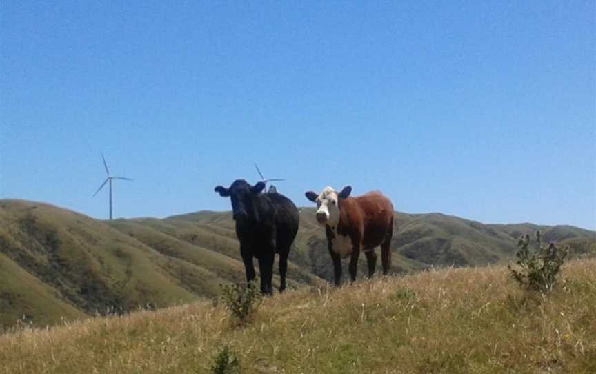
[[[257,162],[396,210],[596,228],[594,1],[0,3],[0,198],[228,210]]]

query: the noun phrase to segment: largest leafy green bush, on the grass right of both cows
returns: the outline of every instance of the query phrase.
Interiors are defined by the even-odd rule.
[[[533,291],[550,292],[556,282],[557,274],[565,261],[568,250],[560,250],[554,243],[542,246],[542,234],[536,232],[536,251],[530,253],[530,235],[521,235],[517,241],[519,250],[515,254],[519,270],[508,266],[511,276],[520,286]]]

